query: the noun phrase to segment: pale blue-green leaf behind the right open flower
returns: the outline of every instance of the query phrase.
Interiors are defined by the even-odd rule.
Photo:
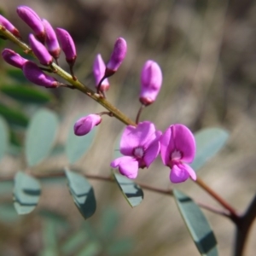
[[[191,167],[197,171],[223,148],[230,134],[221,128],[207,128],[195,133],[196,154]]]

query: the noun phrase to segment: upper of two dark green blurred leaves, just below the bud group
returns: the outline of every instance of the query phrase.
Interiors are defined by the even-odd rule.
[[[23,103],[45,104],[53,100],[46,90],[26,85],[2,85],[0,90],[7,96]]]

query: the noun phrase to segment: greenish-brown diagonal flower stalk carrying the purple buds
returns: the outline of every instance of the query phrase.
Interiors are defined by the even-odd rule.
[[[15,36],[7,31],[3,26],[0,25],[0,34],[3,35],[3,37],[8,38],[10,41],[13,43],[17,44],[20,46],[21,49],[23,49],[27,54],[32,53],[32,49],[29,48],[29,46],[22,41],[20,41],[19,38],[15,38]],[[35,57],[35,55],[33,55]],[[124,113],[119,111],[118,108],[115,108],[110,102],[108,102],[105,98],[102,98],[99,94],[97,94],[94,90],[91,90],[89,87],[86,85],[82,84],[79,80],[73,80],[72,75],[67,73],[65,70],[63,70],[61,67],[56,65],[55,63],[52,63],[50,66],[52,70],[55,71],[62,79],[65,79],[68,81],[70,84],[73,84],[73,87],[77,90],[80,90],[87,96],[90,96],[93,100],[96,102],[100,103],[104,108],[108,109],[111,113],[113,113],[113,116],[117,119],[119,119],[121,122],[123,122],[125,125],[136,125],[134,121],[129,119]]]

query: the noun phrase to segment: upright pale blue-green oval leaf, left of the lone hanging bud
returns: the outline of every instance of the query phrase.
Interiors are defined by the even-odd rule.
[[[35,166],[49,154],[58,128],[58,118],[48,109],[39,110],[26,131],[25,153],[28,166]]]

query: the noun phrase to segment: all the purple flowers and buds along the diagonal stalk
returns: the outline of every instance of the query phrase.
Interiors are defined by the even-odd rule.
[[[46,88],[59,86],[71,87],[61,84],[55,78],[44,73],[45,70],[54,70],[53,61],[58,65],[61,50],[66,56],[73,80],[73,65],[77,58],[76,47],[71,35],[63,28],[53,28],[49,21],[41,19],[38,14],[27,6],[19,6],[17,14],[33,33],[28,37],[32,53],[44,67],[39,67],[33,61],[28,61],[12,49],[3,49],[3,59],[14,67],[20,68],[26,79],[33,84]],[[2,29],[11,32],[16,38],[20,32],[9,20],[0,15]],[[113,45],[113,52],[105,64],[102,55],[97,54],[93,63],[93,73],[96,80],[96,92],[100,97],[106,97],[109,89],[108,78],[119,69],[125,59],[127,45],[124,38],[117,38]],[[45,67],[50,67],[49,69]],[[44,70],[44,71],[43,71]],[[143,65],[141,72],[141,90],[138,97],[142,103],[137,113],[136,125],[128,125],[120,140],[120,152],[124,156],[111,162],[113,168],[119,168],[119,172],[126,177],[136,178],[139,168],[149,167],[160,154],[165,166],[171,168],[170,180],[172,183],[181,183],[189,177],[196,179],[195,171],[188,165],[195,158],[195,138],[185,125],[170,125],[164,133],[157,131],[154,124],[149,121],[139,122],[140,114],[144,107],[152,104],[160,92],[162,73],[159,65],[148,60]],[[102,122],[102,114],[113,116],[111,112],[91,113],[77,120],[73,129],[77,136],[88,134],[96,125]],[[131,122],[130,122],[131,123]]]

